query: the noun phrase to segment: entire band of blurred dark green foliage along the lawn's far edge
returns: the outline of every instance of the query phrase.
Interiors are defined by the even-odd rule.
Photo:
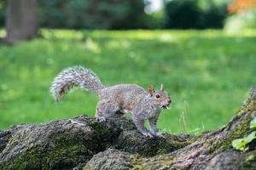
[[[39,26],[110,30],[222,28],[231,0],[163,0],[162,10],[145,14],[151,1],[38,0]],[[0,0],[0,26],[4,26],[5,3]]]

